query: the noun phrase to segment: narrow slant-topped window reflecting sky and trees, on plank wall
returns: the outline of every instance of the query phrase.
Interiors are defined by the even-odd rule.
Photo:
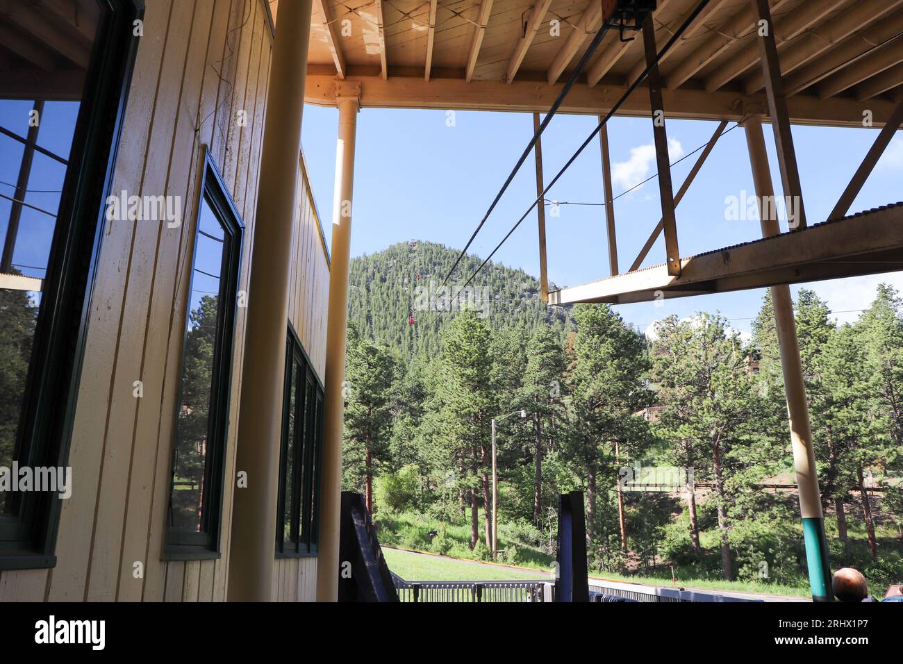
[[[232,384],[238,276],[244,225],[204,149],[203,192],[172,444],[166,557],[219,557]]]

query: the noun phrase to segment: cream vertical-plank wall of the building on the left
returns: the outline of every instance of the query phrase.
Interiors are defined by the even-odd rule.
[[[246,231],[247,290],[273,35],[265,0],[145,0],[113,192],[182,197],[182,225],[111,221],[91,295],[87,347],[53,569],[0,572],[0,601],[222,601],[234,482],[218,560],[161,559],[202,145]],[[237,122],[247,112],[247,124]],[[329,261],[299,168],[290,317],[323,376]],[[245,312],[238,309],[227,478],[235,477]],[[135,380],[144,397],[135,398]],[[275,515],[274,515],[275,519]],[[240,546],[237,544],[237,546]],[[144,565],[136,577],[135,563]],[[312,599],[316,559],[277,561],[274,598]]]

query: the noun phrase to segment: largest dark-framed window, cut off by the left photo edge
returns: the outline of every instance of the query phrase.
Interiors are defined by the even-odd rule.
[[[139,0],[0,14],[0,466],[69,458]],[[58,485],[59,486],[59,485]],[[59,491],[0,493],[0,569],[51,567]]]

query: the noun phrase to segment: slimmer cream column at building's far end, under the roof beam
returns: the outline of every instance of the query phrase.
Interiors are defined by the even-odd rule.
[[[339,528],[341,514],[341,442],[345,410],[345,334],[348,328],[348,268],[351,239],[351,198],[354,186],[354,139],[359,88],[337,90],[339,141],[332,199],[330,304],[326,323],[326,379],[323,460],[320,500],[320,542],[317,555],[317,601],[335,602],[339,593]],[[353,386],[352,386],[353,388]]]

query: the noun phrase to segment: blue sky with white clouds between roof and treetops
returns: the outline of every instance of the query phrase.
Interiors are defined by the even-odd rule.
[[[533,119],[522,113],[457,112],[447,126],[446,112],[363,108],[358,114],[354,215],[351,254],[373,253],[412,238],[461,248],[485,213],[505,176],[529,140]],[[303,145],[312,188],[321,211],[327,241],[331,232],[332,186],[338,112],[305,106]],[[545,181],[549,182],[573,151],[596,126],[594,117],[553,118],[543,135]],[[675,154],[692,152],[712,136],[717,123],[669,120],[669,139],[678,142]],[[728,125],[728,128],[733,123]],[[777,195],[780,173],[771,127],[764,126]],[[877,129],[793,127],[806,215],[810,223],[824,220],[852,173],[869,149]],[[613,118],[609,127],[612,179],[617,196],[628,186],[655,173],[644,145],[652,142],[651,122],[645,118]],[[632,159],[631,159],[632,156]],[[675,192],[697,154],[673,169]],[[652,180],[615,202],[621,270],[629,267],[648,233],[661,216],[658,185]],[[684,200],[677,208],[681,255],[729,246],[760,237],[758,220],[725,220],[725,198],[752,195],[752,173],[742,127],[721,136]],[[589,145],[556,183],[547,198],[556,201],[603,200],[600,146]],[[533,157],[518,173],[505,197],[470,248],[486,257],[498,240],[535,200]],[[871,174],[851,213],[903,200],[903,132],[898,132]],[[546,208],[549,278],[557,285],[577,285],[608,276],[605,209],[563,205],[560,216]],[[786,229],[786,224],[782,224]],[[536,214],[532,212],[498,251],[495,259],[538,276]],[[664,261],[662,238],[649,252],[644,266]],[[835,312],[868,307],[875,285],[889,282],[903,289],[903,273],[863,276],[808,285]],[[793,291],[796,295],[797,287]],[[719,311],[740,332],[749,331],[764,291],[751,290],[701,295],[616,307],[628,323],[646,329],[649,323],[676,313]],[[843,321],[858,313],[837,313]]]

